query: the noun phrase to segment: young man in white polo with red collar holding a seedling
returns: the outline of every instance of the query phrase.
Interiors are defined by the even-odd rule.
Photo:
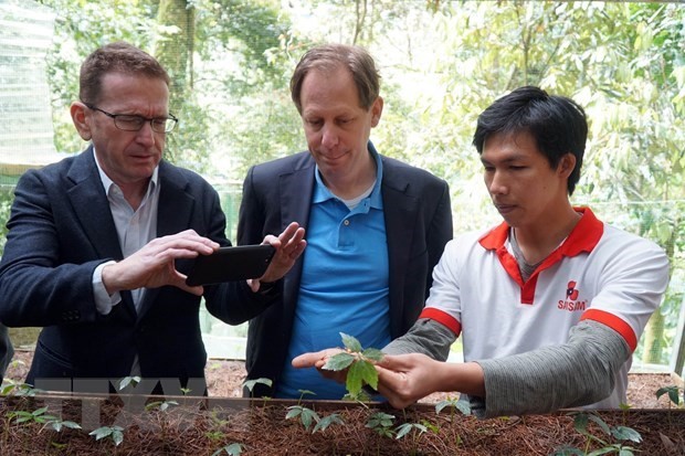
[[[504,222],[447,243],[419,320],[383,349],[379,391],[393,406],[435,391],[467,394],[481,417],[625,402],[668,261],[571,205],[587,134],[579,105],[538,87],[481,114],[474,145]],[[465,362],[440,362],[460,335]],[[330,354],[293,363],[322,368]]]

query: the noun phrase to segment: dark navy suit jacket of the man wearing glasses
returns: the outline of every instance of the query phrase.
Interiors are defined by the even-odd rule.
[[[192,229],[230,245],[219,195],[204,179],[162,160],[159,184],[158,236]],[[130,375],[136,353],[145,378],[177,378],[183,388],[190,379],[204,381],[200,297],[166,286],[146,290],[139,314],[129,291],[122,293],[109,315],[95,308],[94,269],[123,255],[92,148],[27,171],[17,184],[8,229],[0,262],[0,321],[44,327],[28,383],[120,379]],[[178,261],[177,268],[187,274],[191,262]],[[204,298],[210,312],[224,320],[233,303],[263,305],[267,299],[244,282],[208,286]]]

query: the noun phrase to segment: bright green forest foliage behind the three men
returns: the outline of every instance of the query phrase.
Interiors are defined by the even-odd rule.
[[[0,3],[10,0],[0,0]],[[23,3],[27,3],[25,1]],[[360,44],[376,57],[386,106],[371,139],[451,188],[455,234],[499,220],[471,145],[477,115],[523,85],[572,97],[590,138],[572,197],[658,243],[671,284],[635,360],[675,365],[685,300],[685,8],[678,2],[444,0],[39,0],[54,13],[48,79],[54,146],[83,150],[68,106],[97,46],[125,40],[172,77],[179,117],[166,158],[222,193],[235,240],[250,166],[305,150],[288,91],[309,46]],[[11,189],[0,201],[0,235]],[[0,244],[1,247],[2,244]],[[679,320],[679,322],[678,322]],[[682,369],[682,359],[679,360]]]

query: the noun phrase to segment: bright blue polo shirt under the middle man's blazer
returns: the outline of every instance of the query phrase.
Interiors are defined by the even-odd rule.
[[[380,192],[382,165],[376,159],[371,193],[349,209],[322,181],[318,167],[307,226],[299,299],[293,336],[276,397],[339,400],[345,385],[324,379],[316,369],[293,369],[298,354],[342,347],[340,332],[356,337],[363,348],[390,342],[388,244]]]

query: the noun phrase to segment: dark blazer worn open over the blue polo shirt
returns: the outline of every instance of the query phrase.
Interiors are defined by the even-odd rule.
[[[452,238],[447,183],[428,171],[381,157],[381,194],[390,265],[390,331],[394,339],[409,330],[423,309],[432,271]],[[238,243],[261,242],[296,221],[307,227],[315,185],[315,161],[302,152],[252,167],[243,184]],[[250,320],[249,379],[267,378],[274,388],[286,361],[299,293],[302,257],[280,280],[281,296],[261,306],[233,306],[230,322]],[[254,395],[273,395],[257,384]]]

